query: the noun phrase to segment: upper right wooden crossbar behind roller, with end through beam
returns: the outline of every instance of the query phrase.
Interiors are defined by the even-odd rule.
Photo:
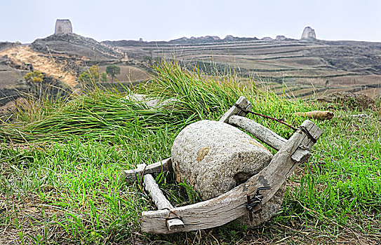
[[[259,123],[256,123],[254,120],[250,120],[248,118],[241,116],[231,116],[229,118],[229,124],[236,127],[241,127],[243,130],[253,134],[254,137],[260,139],[276,150],[279,150],[287,142],[287,139],[280,137],[278,134],[272,130],[269,130],[267,127],[264,127]],[[291,158],[295,162],[300,163],[305,162],[310,156],[311,153],[309,153],[309,151],[299,148],[297,151],[295,151],[295,153],[293,153]]]

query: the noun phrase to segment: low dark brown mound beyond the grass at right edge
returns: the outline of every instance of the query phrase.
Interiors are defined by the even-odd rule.
[[[334,92],[316,99],[329,109],[350,109],[363,111],[366,109],[377,110],[375,101],[365,94],[353,92]]]

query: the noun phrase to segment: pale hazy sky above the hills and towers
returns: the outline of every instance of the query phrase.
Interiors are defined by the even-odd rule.
[[[30,43],[53,34],[56,19],[98,41],[161,41],[227,34],[381,41],[381,0],[0,0],[0,41]]]

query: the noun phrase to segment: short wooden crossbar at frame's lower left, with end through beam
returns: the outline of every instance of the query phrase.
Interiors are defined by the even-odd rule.
[[[149,196],[154,201],[157,209],[170,210],[173,209],[171,202],[166,199],[163,192],[160,190],[159,185],[156,183],[154,177],[151,174],[145,174],[144,176],[145,190],[149,193]],[[180,218],[171,218],[166,221],[168,232],[179,232],[184,229],[184,223]]]

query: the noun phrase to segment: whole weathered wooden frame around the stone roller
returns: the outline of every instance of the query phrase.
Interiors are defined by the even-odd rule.
[[[240,97],[236,105],[238,107],[233,106],[229,109],[220,121],[241,127],[272,148],[279,150],[272,161],[265,169],[229,192],[185,207],[173,207],[151,175],[171,169],[171,158],[152,165],[138,165],[137,169],[125,170],[123,174],[127,181],[135,181],[144,176],[145,189],[159,209],[142,212],[142,232],[170,234],[225,225],[247,214],[247,197],[255,195],[258,188],[271,186],[270,190],[262,190],[262,202],[267,202],[298,167],[298,164],[307,162],[311,156],[309,150],[322,134],[319,127],[310,120],[305,120],[301,125],[303,130],[298,130],[286,140],[267,127],[245,118],[246,111],[253,107],[245,97]],[[253,216],[255,218],[255,214]]]

